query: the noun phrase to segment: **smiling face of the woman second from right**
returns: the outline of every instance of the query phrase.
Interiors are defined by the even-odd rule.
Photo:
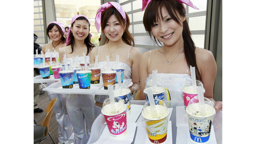
[[[111,15],[105,25],[104,34],[110,41],[117,42],[122,40],[123,33],[124,29],[120,22],[115,15]]]

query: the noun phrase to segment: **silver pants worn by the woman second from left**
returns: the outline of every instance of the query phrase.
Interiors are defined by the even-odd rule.
[[[86,144],[96,119],[94,95],[69,94],[66,98],[67,111],[74,127],[75,143]]]

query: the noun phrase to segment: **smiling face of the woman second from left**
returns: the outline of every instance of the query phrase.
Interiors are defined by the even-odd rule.
[[[86,20],[75,20],[73,27],[71,27],[74,38],[84,41],[90,32],[89,27],[89,23]]]

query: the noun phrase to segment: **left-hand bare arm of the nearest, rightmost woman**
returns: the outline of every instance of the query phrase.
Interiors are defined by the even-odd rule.
[[[145,100],[143,91],[145,89],[145,82],[148,77],[148,58],[149,51],[143,53],[140,58],[140,100]]]

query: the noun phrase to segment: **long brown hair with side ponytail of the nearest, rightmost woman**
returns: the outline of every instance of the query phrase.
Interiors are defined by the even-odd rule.
[[[163,19],[162,8],[165,8],[166,11],[170,14],[171,18],[177,22],[179,25],[183,26],[182,37],[184,41],[184,53],[188,67],[190,65],[196,69],[196,78],[202,82],[201,74],[198,70],[196,64],[196,55],[195,55],[195,43],[191,38],[191,32],[188,27],[188,22],[185,20],[183,23],[180,21],[179,15],[182,17],[186,16],[184,6],[179,3],[177,0],[152,0],[144,13],[143,24],[149,34],[150,38],[154,40],[158,46],[163,46],[159,40],[157,40],[152,34],[152,26],[158,19]],[[160,14],[159,14],[160,10]],[[178,15],[179,14],[179,15]],[[161,18],[160,18],[161,16]],[[160,44],[160,45],[159,45]]]

